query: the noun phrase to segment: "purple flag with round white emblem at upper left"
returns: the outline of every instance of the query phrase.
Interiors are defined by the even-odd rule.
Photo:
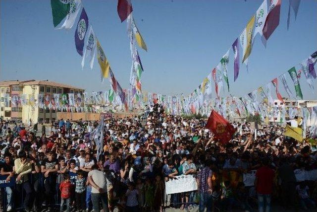
[[[77,28],[75,31],[75,45],[76,50],[80,56],[83,56],[83,49],[85,43],[85,36],[88,29],[88,16],[85,9],[81,10],[81,14],[78,20]]]

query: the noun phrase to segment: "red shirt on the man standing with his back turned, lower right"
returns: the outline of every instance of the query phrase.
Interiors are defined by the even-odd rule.
[[[274,171],[267,166],[262,166],[257,170],[256,189],[259,194],[271,194],[273,187]]]

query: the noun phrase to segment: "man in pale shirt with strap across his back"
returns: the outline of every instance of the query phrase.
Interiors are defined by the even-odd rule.
[[[109,212],[108,197],[106,194],[106,175],[104,172],[99,171],[98,166],[92,166],[92,170],[88,173],[88,182],[92,186],[91,199],[93,202],[94,212],[100,212],[99,203],[101,201],[104,212]]]

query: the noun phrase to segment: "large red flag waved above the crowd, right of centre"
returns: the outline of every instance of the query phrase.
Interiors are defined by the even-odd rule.
[[[215,110],[211,111],[206,128],[209,129],[223,144],[230,141],[231,137],[236,132],[233,126]]]

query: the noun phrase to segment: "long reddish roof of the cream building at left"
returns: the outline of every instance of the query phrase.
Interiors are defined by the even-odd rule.
[[[68,84],[53,82],[48,79],[47,80],[30,79],[30,80],[24,80],[24,81],[20,81],[20,80],[0,81],[0,87],[7,87],[10,85],[49,85],[49,86],[55,86],[55,87],[65,87],[65,88],[71,88],[71,89],[84,90],[83,88],[75,87]]]

